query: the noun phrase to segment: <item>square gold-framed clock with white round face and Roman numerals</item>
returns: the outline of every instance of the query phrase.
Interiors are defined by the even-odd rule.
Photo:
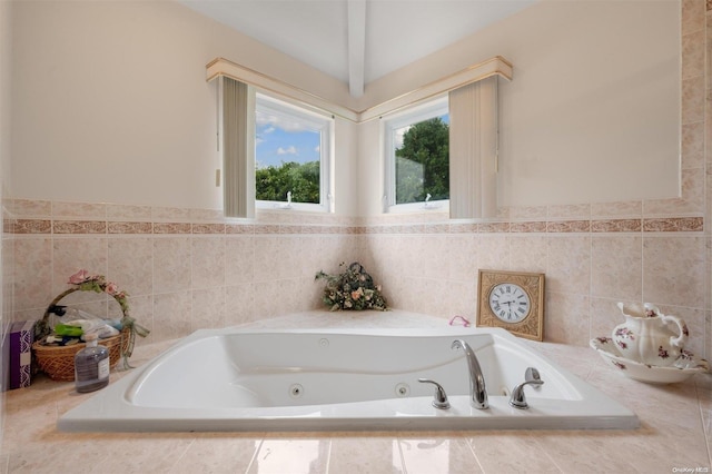
[[[479,270],[477,326],[544,339],[544,274]]]

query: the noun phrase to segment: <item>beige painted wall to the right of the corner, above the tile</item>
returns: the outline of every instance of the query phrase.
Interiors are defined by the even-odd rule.
[[[500,206],[676,197],[680,51],[676,1],[542,1],[374,81],[366,99],[502,56],[514,73],[500,81]],[[365,127],[363,146],[378,137]],[[383,167],[377,149],[362,159]],[[382,195],[364,192],[362,215]]]

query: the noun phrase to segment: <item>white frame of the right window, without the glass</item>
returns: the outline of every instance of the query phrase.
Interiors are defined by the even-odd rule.
[[[419,102],[405,110],[393,113],[383,119],[383,151],[384,151],[384,213],[413,213],[423,210],[449,210],[449,199],[428,200],[421,203],[396,204],[396,150],[395,130],[415,125],[432,118],[449,115],[447,93]]]

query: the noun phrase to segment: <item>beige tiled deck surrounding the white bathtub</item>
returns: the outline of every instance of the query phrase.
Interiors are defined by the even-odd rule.
[[[253,327],[431,327],[435,318],[304,313]],[[712,376],[654,386],[621,376],[593,349],[525,342],[633,409],[635,431],[68,434],[57,418],[91,394],[44,377],[6,398],[0,473],[672,473],[712,467]],[[137,348],[135,365],[171,342]],[[112,373],[116,382],[122,374]],[[68,455],[68,453],[71,453]],[[675,471],[679,470],[679,471]]]

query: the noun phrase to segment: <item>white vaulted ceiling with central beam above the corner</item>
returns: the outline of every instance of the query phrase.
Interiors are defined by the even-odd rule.
[[[178,0],[349,86],[436,52],[537,0]]]

